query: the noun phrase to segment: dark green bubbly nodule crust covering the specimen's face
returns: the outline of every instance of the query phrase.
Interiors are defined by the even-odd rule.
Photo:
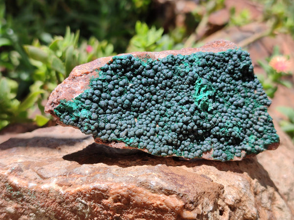
[[[161,156],[212,151],[223,161],[279,141],[270,100],[241,49],[145,61],[117,56],[97,73],[90,89],[54,111],[64,124],[103,141]]]

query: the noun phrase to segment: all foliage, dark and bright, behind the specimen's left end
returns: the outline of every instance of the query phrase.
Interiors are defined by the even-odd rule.
[[[145,17],[149,4],[150,0],[0,2],[0,129],[24,121],[46,124],[44,103],[50,92],[74,66],[114,55],[113,44],[103,39],[124,52],[135,22]],[[70,28],[64,33],[68,23],[75,34]],[[89,40],[79,41],[80,33]]]

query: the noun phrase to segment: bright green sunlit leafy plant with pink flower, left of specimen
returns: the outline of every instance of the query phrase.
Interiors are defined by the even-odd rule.
[[[9,77],[0,79],[0,129],[15,122],[35,121],[43,126],[49,121],[44,114],[44,102],[50,92],[61,83],[74,66],[90,62],[98,57],[113,55],[113,45],[106,41],[99,42],[91,37],[89,41],[78,44],[79,32],[71,33],[67,28],[65,37],[55,36],[49,45],[41,45],[35,40],[32,45],[25,45],[28,61],[34,70],[30,74],[33,84],[25,99],[17,99],[19,83]],[[33,112],[39,109],[40,113]]]

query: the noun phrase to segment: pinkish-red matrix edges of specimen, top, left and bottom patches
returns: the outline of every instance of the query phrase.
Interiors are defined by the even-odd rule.
[[[168,55],[190,55],[196,52],[221,52],[221,51],[227,51],[229,49],[237,49],[236,44],[233,44],[231,42],[227,41],[216,41],[210,44],[206,44],[203,47],[200,48],[185,48],[181,50],[170,50],[170,51],[162,51],[162,52],[134,52],[130,53],[135,58],[139,58],[141,60],[158,60],[167,57]],[[127,54],[120,54],[116,57],[125,56]],[[62,121],[60,121],[60,118],[54,113],[54,109],[60,104],[61,100],[71,101],[81,93],[83,93],[86,89],[89,88],[90,79],[95,76],[98,77],[97,70],[100,69],[100,67],[106,65],[107,63],[111,63],[113,61],[113,57],[105,57],[105,58],[99,58],[93,62],[90,62],[88,64],[76,66],[70,76],[60,85],[58,85],[57,88],[54,89],[54,91],[51,93],[49,97],[49,101],[46,105],[45,112],[50,113],[54,117],[57,118],[57,123],[62,126],[68,126],[65,125]],[[72,126],[74,127],[74,126]],[[77,127],[75,127],[77,128]],[[119,141],[105,141],[102,140],[99,137],[95,138],[95,141],[97,143],[102,143],[105,145],[108,145],[110,147],[115,148],[128,148],[128,149],[134,149],[134,147],[130,147],[127,144]],[[274,150],[278,147],[279,142],[271,143],[267,150]],[[141,148],[139,150],[145,151],[148,153],[148,150],[145,148]],[[200,158],[204,159],[214,159],[212,157],[213,150],[207,151],[201,155]],[[175,155],[175,154],[172,154]],[[168,156],[172,156],[168,155]],[[242,151],[241,156],[234,156],[233,160],[240,160],[243,157],[250,157],[254,156],[255,154],[245,154],[245,151]],[[178,155],[177,155],[178,156]]]

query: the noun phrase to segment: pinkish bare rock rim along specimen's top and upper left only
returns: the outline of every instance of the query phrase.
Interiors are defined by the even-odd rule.
[[[168,55],[189,55],[199,51],[202,52],[221,52],[228,49],[234,49],[237,45],[228,41],[214,41],[212,43],[205,44],[199,48],[183,48],[180,50],[165,50],[161,52],[133,52],[128,53],[134,57],[140,59],[160,59]],[[122,56],[126,54],[119,54],[117,56]],[[73,71],[67,79],[65,79],[61,84],[59,84],[51,93],[48,103],[45,107],[45,112],[50,113],[52,116],[56,117],[54,114],[54,108],[60,104],[60,100],[72,100],[74,97],[78,96],[85,89],[89,88],[90,78],[96,75],[96,69],[107,64],[112,60],[112,57],[102,57],[94,60],[87,64],[82,64],[73,68]],[[62,124],[57,118],[57,122]]]

